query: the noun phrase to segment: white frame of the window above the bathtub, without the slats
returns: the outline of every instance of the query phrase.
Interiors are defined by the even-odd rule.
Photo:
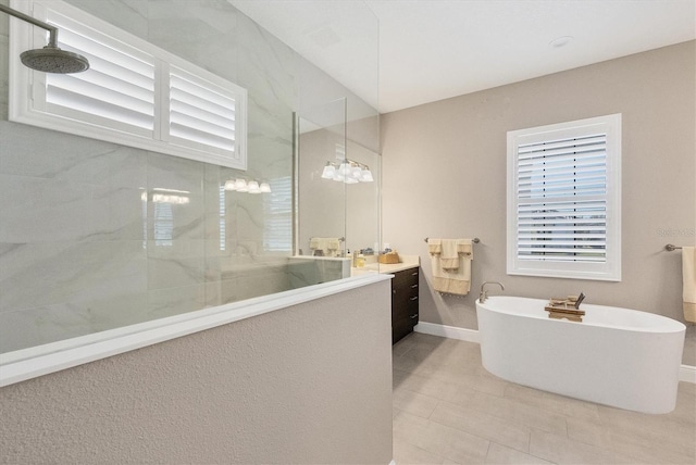
[[[604,262],[520,259],[519,148],[527,143],[558,141],[606,134],[606,260]],[[507,133],[507,274],[571,279],[621,281],[621,114],[551,124]],[[572,199],[571,197],[567,199]],[[549,202],[550,203],[550,202]]]

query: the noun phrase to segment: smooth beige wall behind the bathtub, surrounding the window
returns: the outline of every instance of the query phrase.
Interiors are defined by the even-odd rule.
[[[683,321],[681,259],[662,248],[695,241],[695,45],[383,115],[383,240],[421,255],[421,321],[476,328],[474,301],[484,280],[502,281],[505,293],[515,296],[582,290],[588,303]],[[506,133],[612,113],[623,115],[622,281],[506,275]],[[474,236],[482,243],[472,292],[433,292],[423,239]],[[687,334],[684,363],[696,365],[693,325]]]

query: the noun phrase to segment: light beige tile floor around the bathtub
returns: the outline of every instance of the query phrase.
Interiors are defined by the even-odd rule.
[[[393,355],[397,465],[696,464],[694,384],[647,415],[504,381],[476,343],[414,332]]]

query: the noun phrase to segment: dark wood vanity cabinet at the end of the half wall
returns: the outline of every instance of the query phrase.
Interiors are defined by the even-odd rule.
[[[418,324],[418,267],[394,273],[391,279],[391,343]]]

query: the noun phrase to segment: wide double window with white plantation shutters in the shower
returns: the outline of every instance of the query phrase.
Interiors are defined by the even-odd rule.
[[[23,66],[20,53],[46,45],[46,34],[12,21],[11,121],[246,169],[245,89],[62,1],[12,7],[55,25],[59,47],[90,68]]]

